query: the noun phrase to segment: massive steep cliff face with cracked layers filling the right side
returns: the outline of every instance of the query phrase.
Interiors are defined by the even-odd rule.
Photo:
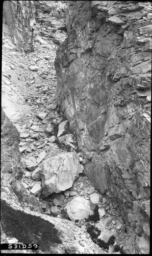
[[[151,3],[68,3],[68,38],[55,60],[58,108],[77,134],[90,180],[135,231],[132,251],[147,253]]]

